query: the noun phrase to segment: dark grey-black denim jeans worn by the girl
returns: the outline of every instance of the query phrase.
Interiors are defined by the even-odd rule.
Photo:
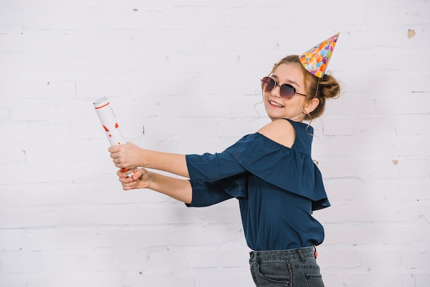
[[[313,247],[251,251],[249,265],[258,287],[324,287]]]

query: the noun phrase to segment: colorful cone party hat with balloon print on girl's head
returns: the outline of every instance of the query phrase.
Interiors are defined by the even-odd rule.
[[[326,73],[328,62],[332,56],[333,49],[335,49],[339,34],[340,32],[300,55],[300,62],[302,62],[304,69],[314,76],[322,78]]]

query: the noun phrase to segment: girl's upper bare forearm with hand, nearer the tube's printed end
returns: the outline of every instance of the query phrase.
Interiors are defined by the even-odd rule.
[[[131,142],[127,142],[126,145],[111,146],[109,152],[117,168],[142,166],[190,177],[184,154],[145,150]]]

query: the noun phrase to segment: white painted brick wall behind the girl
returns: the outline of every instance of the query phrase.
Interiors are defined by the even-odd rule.
[[[267,122],[273,63],[338,31],[326,286],[429,286],[429,0],[0,0],[0,287],[252,286],[236,200],[122,192],[91,103],[139,145],[221,151]]]

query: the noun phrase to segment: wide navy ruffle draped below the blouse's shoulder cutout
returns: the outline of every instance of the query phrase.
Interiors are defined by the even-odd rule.
[[[330,206],[321,172],[310,155],[260,133],[245,135],[225,152],[263,181],[313,200],[313,210]]]

